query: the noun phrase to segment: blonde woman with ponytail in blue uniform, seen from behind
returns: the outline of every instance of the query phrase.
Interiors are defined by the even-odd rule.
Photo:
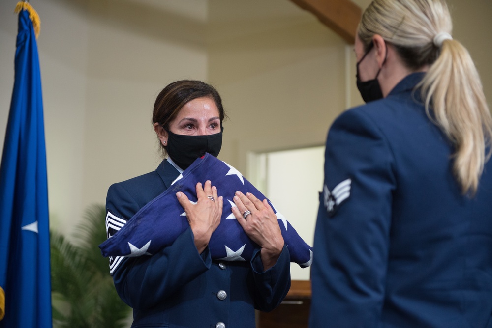
[[[374,0],[326,141],[311,327],[492,327],[492,121],[443,0]]]

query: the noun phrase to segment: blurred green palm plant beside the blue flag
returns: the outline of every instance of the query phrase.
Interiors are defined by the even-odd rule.
[[[90,206],[72,241],[51,231],[51,285],[54,327],[122,328],[130,314],[109,274],[98,245],[106,240],[102,205]]]

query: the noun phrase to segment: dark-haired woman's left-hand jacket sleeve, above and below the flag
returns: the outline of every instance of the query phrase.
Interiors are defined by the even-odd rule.
[[[140,206],[119,184],[110,187],[106,208],[124,220]],[[208,247],[199,254],[191,228],[185,230],[169,247],[153,256],[125,258],[115,269],[113,280],[122,300],[134,309],[152,307],[183,285],[207,271],[212,263]]]

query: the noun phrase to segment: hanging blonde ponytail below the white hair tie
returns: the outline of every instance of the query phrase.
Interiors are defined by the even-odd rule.
[[[492,119],[468,51],[456,40],[445,40],[419,86],[428,116],[453,142],[453,171],[461,191],[475,194],[491,156]]]

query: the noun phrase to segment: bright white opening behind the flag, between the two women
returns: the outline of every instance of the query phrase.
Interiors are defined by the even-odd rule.
[[[310,246],[314,241],[325,146],[249,153],[248,178]],[[292,263],[293,280],[309,280],[310,268]]]

